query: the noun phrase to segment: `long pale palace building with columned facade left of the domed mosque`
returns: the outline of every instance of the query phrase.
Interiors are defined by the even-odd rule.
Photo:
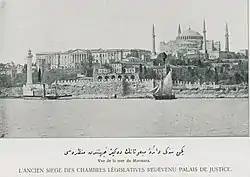
[[[81,62],[90,59],[93,63],[105,64],[120,62],[131,56],[148,61],[151,52],[143,49],[75,49],[66,52],[37,53],[36,64],[38,68],[79,69]]]

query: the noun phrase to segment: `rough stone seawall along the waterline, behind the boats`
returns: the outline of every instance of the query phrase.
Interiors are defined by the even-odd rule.
[[[70,94],[74,98],[152,98],[152,80],[144,81],[109,81],[109,82],[58,82],[59,95]],[[47,89],[53,94],[55,88]],[[177,98],[248,98],[247,85],[174,85],[173,92]],[[35,95],[42,96],[42,90],[34,90]],[[21,97],[22,87],[0,88],[0,97]]]

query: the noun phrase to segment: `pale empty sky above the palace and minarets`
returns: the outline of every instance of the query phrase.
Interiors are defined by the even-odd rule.
[[[4,0],[2,0],[4,1]],[[247,0],[5,0],[0,8],[0,62],[25,63],[33,53],[82,48],[152,50],[174,40],[178,25],[221,41],[228,22],[230,49],[248,48]]]

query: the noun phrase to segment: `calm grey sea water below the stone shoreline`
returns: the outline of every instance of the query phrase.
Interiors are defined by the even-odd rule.
[[[248,99],[0,100],[5,137],[248,136]]]

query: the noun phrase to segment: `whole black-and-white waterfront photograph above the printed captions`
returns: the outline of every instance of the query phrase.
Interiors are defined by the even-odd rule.
[[[248,137],[247,0],[2,0],[1,138]]]

